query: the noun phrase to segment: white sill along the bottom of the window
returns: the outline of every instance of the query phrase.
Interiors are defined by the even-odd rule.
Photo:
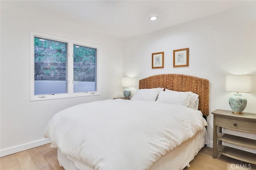
[[[77,98],[77,97],[98,96],[98,95],[100,95],[99,92],[82,92],[82,93],[76,93],[76,94],[46,94],[46,95],[30,96],[30,101]]]

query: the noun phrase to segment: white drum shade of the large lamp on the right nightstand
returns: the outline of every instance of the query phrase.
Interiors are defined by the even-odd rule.
[[[227,92],[244,92],[252,91],[252,75],[228,75],[226,76]]]

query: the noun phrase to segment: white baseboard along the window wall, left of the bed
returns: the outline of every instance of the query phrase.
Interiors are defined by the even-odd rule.
[[[34,148],[34,147],[39,147],[41,145],[45,145],[45,144],[48,144],[48,143],[51,143],[50,139],[49,138],[44,138],[44,139],[40,139],[40,140],[37,140],[37,141],[24,143],[22,145],[16,145],[14,147],[1,149],[0,150],[0,157],[6,156],[6,155],[9,155],[9,154],[14,154],[14,153],[17,153],[17,152],[21,152],[23,150],[31,149],[31,148]]]

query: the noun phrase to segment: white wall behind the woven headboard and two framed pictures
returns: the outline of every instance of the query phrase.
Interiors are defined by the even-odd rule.
[[[248,100],[244,112],[256,113],[255,11],[256,2],[253,2],[250,6],[127,39],[124,42],[124,74],[135,76],[137,82],[164,73],[206,78],[210,81],[210,112],[231,110],[228,98],[233,93],[225,91],[226,75],[252,74],[253,91],[242,95]],[[182,48],[189,48],[189,66],[173,68],[173,50]],[[164,68],[152,69],[151,54],[161,51],[164,51]],[[207,119],[212,146],[211,113]]]

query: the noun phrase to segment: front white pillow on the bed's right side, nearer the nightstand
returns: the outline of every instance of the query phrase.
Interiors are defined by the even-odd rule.
[[[176,91],[163,91],[158,95],[156,102],[168,103],[168,104],[178,104],[178,105],[189,105],[190,93],[180,93]]]

